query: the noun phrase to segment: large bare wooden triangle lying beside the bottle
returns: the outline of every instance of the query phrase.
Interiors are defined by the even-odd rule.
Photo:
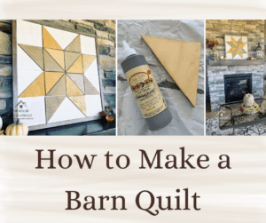
[[[196,106],[200,43],[142,36],[184,95]]]

